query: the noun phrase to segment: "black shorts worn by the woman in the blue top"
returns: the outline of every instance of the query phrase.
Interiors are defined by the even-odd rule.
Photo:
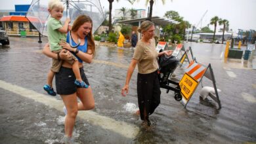
[[[82,80],[89,86],[88,79],[83,67],[79,68]],[[60,71],[55,74],[56,92],[60,95],[69,95],[76,92],[75,74],[72,68],[60,67]]]

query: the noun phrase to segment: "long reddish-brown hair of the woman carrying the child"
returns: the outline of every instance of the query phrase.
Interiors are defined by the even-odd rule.
[[[72,25],[72,31],[76,32],[80,26],[82,26],[83,24],[85,24],[85,22],[89,22],[91,23],[91,27],[93,29],[93,20],[91,20],[91,18],[87,15],[80,15],[77,16],[77,18],[75,18],[75,21]],[[90,31],[90,33],[88,33],[88,35],[86,36],[88,38],[88,49],[91,49],[93,56],[95,56],[95,40],[93,39],[93,32],[92,29]]]

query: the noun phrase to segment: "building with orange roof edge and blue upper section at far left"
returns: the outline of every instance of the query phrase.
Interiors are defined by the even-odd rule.
[[[38,31],[25,17],[30,5],[15,5],[14,12],[9,16],[0,18],[0,27],[7,31],[8,35],[20,35],[20,31],[26,31],[26,35],[39,35]]]

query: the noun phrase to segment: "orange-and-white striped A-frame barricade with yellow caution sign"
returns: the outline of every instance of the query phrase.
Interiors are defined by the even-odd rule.
[[[194,91],[198,87],[198,84],[202,81],[202,78],[207,77],[213,82],[215,90],[215,94],[210,93],[209,96],[218,103],[219,109],[221,109],[221,101],[219,100],[219,94],[217,92],[215,77],[213,75],[211,63],[205,66],[192,61],[185,69],[185,72],[186,73],[184,73],[181,81],[179,82],[179,86],[181,88],[182,103],[184,104],[184,107],[186,107],[186,105],[188,104],[188,101],[194,94]]]

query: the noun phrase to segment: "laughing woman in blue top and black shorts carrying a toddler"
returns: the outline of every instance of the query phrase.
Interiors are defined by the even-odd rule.
[[[93,22],[89,16],[78,16],[72,26],[71,35],[72,39],[67,37],[67,42],[75,45],[81,40],[80,45],[77,48],[72,48],[68,43],[62,41],[60,46],[66,50],[62,50],[59,54],[51,52],[49,44],[43,49],[43,54],[54,58],[56,60],[68,60],[70,58],[70,52],[72,52],[79,61],[79,71],[81,78],[89,86],[89,88],[81,88],[74,84],[75,75],[72,71],[72,65],[64,61],[60,71],[56,73],[56,92],[60,94],[64,102],[65,118],[65,135],[63,138],[64,143],[73,143],[72,132],[75,125],[75,118],[77,111],[90,110],[95,107],[95,99],[93,98],[93,91],[89,84],[89,81],[83,70],[83,62],[91,63],[95,54],[95,42],[93,39],[92,29]],[[81,102],[77,103],[77,97]]]

